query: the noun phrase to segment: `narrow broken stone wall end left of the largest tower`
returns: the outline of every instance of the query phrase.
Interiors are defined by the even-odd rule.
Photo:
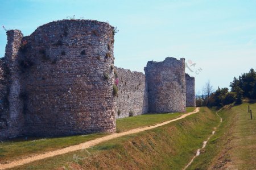
[[[23,133],[23,102],[20,99],[19,48],[23,35],[19,30],[7,31],[5,57],[1,60],[0,139]]]

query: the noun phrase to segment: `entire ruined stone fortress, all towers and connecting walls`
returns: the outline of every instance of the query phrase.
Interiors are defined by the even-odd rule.
[[[195,106],[184,59],[114,67],[114,33],[96,20],[59,20],[30,36],[7,31],[0,60],[0,139],[115,132],[115,119]],[[117,91],[118,89],[118,91]]]

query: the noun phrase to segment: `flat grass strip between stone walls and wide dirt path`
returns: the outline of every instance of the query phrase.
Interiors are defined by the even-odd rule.
[[[195,110],[195,107],[187,107],[187,112]],[[181,113],[174,114],[146,114],[137,117],[117,119],[117,131],[127,131],[133,128],[150,126],[156,123],[169,121],[179,117]],[[40,154],[47,151],[57,150],[100,138],[108,134],[90,134],[65,136],[60,138],[19,138],[7,142],[0,142],[0,163],[20,159],[23,156]]]

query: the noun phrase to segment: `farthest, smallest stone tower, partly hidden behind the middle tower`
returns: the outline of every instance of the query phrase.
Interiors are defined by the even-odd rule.
[[[196,107],[195,77],[185,74],[186,80],[186,106]]]

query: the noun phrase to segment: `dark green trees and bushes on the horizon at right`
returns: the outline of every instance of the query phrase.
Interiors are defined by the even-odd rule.
[[[228,88],[219,88],[214,92],[210,81],[204,88],[203,94],[196,97],[196,106],[224,106],[230,103],[240,104],[243,98],[256,99],[256,73],[250,69],[249,73],[243,73],[238,78],[234,77],[230,82],[231,91]]]

